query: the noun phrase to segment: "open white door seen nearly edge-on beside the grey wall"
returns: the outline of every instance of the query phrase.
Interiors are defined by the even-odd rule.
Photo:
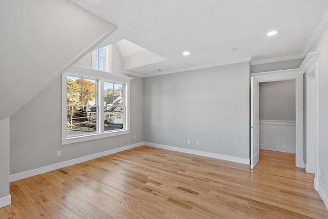
[[[259,90],[260,83],[251,77],[251,168],[260,160],[259,142]]]

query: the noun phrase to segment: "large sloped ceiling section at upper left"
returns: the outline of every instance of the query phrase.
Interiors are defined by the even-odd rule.
[[[68,0],[0,4],[0,120],[117,29]]]

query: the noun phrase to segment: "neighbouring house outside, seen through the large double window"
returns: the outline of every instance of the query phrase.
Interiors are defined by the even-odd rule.
[[[87,105],[87,117],[88,121],[96,120],[97,112],[96,107],[91,107],[96,105],[95,99],[88,101]],[[104,117],[107,123],[110,124],[123,124],[122,112],[124,111],[123,107],[123,98],[122,96],[106,96],[104,97]]]

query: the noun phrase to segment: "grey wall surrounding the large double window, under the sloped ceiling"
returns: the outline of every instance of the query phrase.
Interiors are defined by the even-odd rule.
[[[132,79],[130,134],[61,146],[61,78],[58,77],[10,118],[10,174],[143,142],[142,87],[143,78]],[[57,150],[61,150],[61,156],[57,156]]]

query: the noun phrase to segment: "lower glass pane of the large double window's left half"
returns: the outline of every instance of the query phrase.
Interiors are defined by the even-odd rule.
[[[97,107],[67,107],[67,136],[97,132]]]

